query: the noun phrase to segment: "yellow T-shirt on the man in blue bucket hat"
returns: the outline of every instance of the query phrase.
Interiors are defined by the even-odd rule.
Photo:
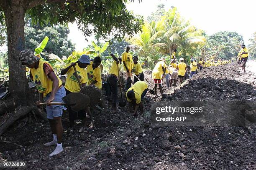
[[[64,69],[69,67],[70,65],[71,65],[71,63],[66,65],[66,67],[64,67]],[[80,79],[81,84],[86,83],[87,82],[87,72],[86,72],[86,70],[84,68],[79,67],[78,63],[75,67],[77,69],[77,75]],[[79,86],[79,83],[77,81],[77,77],[75,76],[73,67],[69,68],[69,70],[67,72],[67,79],[66,79],[66,83],[65,83],[65,88],[67,90],[69,90],[70,92],[80,92],[80,86]]]

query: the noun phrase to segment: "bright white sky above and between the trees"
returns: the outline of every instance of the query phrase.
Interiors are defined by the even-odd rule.
[[[197,28],[205,30],[208,35],[219,31],[236,31],[243,36],[245,44],[253,32],[256,32],[256,0],[138,0],[127,4],[128,10],[135,14],[148,15],[156,11],[158,4],[164,4],[166,10],[177,7],[179,13]],[[76,45],[76,50],[82,50],[93,40],[77,29],[76,23],[69,23],[69,38]],[[6,47],[5,47],[6,48]],[[0,47],[0,50],[3,47]]]

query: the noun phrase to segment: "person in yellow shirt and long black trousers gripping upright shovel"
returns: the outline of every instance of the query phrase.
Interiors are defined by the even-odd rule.
[[[111,109],[116,111],[116,102],[118,97],[118,72],[120,71],[120,64],[122,63],[121,58],[117,58],[113,53],[110,54],[114,59],[107,76],[108,88],[107,96],[108,100],[112,102]]]

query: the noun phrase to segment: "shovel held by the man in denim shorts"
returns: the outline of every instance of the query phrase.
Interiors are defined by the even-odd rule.
[[[62,97],[62,100],[63,102],[51,102],[50,105],[66,105],[74,111],[87,109],[90,105],[90,97],[79,92],[71,92]],[[46,102],[39,103],[39,105],[46,105]]]

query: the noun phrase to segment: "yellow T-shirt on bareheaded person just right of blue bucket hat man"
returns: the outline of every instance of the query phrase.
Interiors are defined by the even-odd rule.
[[[88,83],[87,85],[92,84],[92,82],[94,80],[96,80],[97,82],[94,84],[96,87],[98,87],[99,89],[101,89],[102,87],[102,80],[101,80],[101,71],[100,71],[100,67],[97,67],[93,70],[92,68],[92,64],[93,62],[90,61],[90,65],[87,66],[87,77],[88,77]]]

